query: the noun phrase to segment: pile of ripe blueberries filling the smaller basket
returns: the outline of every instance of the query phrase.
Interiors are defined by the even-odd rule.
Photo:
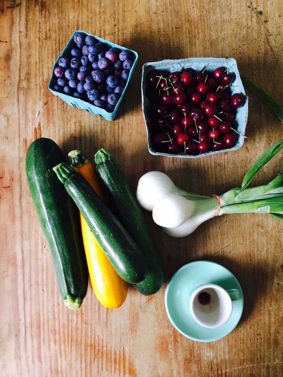
[[[109,47],[91,35],[74,35],[71,57],[61,57],[54,69],[53,89],[113,112],[134,61],[130,51]]]

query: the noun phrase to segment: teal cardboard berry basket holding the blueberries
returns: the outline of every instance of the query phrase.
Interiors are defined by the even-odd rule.
[[[56,92],[54,89],[52,89],[52,87],[54,87],[54,85],[57,83],[57,77],[54,74],[54,69],[55,69],[55,67],[58,66],[58,60],[62,56],[66,56],[66,57],[70,57],[71,56],[71,49],[76,47],[76,44],[75,44],[74,39],[73,39],[74,38],[74,34],[78,33],[78,32],[81,32],[81,33],[83,33],[85,35],[91,35],[92,37],[94,37],[98,41],[101,41],[101,42],[107,44],[109,46],[109,48],[117,47],[120,50],[128,50],[128,51],[131,52],[132,57],[134,57],[134,64],[133,64],[133,66],[132,66],[132,68],[130,70],[129,78],[128,78],[127,82],[126,82],[126,85],[125,85],[125,88],[123,90],[123,93],[122,93],[121,97],[119,98],[119,101],[116,104],[115,109],[114,109],[114,111],[112,113],[110,113],[110,112],[108,112],[105,109],[102,109],[100,107],[94,106],[94,105],[92,105],[92,104],[90,104],[90,103],[88,103],[86,101],[83,101],[80,98],[75,98],[75,97],[72,97],[71,95],[68,95],[68,94],[65,94],[65,93]],[[48,89],[53,94],[55,94],[58,97],[62,98],[62,100],[65,101],[66,103],[68,103],[70,106],[77,107],[78,109],[85,110],[87,112],[90,112],[90,113],[98,115],[98,116],[103,116],[103,118],[105,118],[106,120],[112,121],[112,120],[115,119],[118,107],[119,107],[119,105],[120,105],[120,103],[121,103],[121,101],[123,99],[123,96],[124,96],[124,94],[126,92],[126,89],[127,89],[128,85],[129,85],[129,82],[131,80],[131,77],[132,77],[132,74],[134,72],[135,66],[137,65],[137,61],[138,61],[138,54],[137,54],[137,52],[135,52],[133,50],[130,50],[128,48],[125,48],[123,46],[119,46],[118,44],[109,42],[109,41],[107,41],[107,40],[105,40],[103,38],[97,37],[96,35],[92,35],[92,34],[86,33],[85,31],[76,30],[76,31],[74,31],[71,39],[69,40],[68,44],[63,49],[63,51],[61,52],[61,54],[58,57],[58,59],[55,61],[55,64],[54,64],[53,69],[52,69],[52,76],[51,76],[51,79],[50,79],[50,81],[48,83]]]

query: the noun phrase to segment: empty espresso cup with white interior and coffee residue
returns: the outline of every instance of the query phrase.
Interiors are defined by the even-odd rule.
[[[224,325],[232,314],[232,301],[240,299],[237,289],[225,290],[216,284],[204,284],[195,288],[190,296],[190,310],[202,326],[217,328]]]

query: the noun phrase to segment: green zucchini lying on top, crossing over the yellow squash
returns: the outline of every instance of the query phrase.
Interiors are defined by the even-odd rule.
[[[144,280],[147,268],[140,249],[88,181],[65,162],[58,164],[53,170],[118,275],[128,283]]]

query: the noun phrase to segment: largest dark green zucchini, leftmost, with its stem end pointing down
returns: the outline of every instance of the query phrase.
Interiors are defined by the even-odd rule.
[[[52,168],[64,161],[51,139],[39,138],[28,149],[26,175],[43,234],[48,242],[60,295],[70,309],[82,305],[88,273],[76,208]]]

